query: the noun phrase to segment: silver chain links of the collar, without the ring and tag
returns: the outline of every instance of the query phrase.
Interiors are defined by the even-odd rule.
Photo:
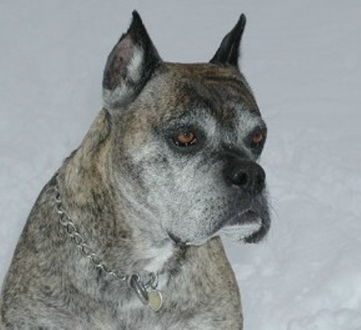
[[[76,247],[80,250],[80,252],[85,256],[85,258],[89,259],[89,261],[96,267],[98,270],[102,270],[106,274],[109,274],[120,281],[127,281],[128,276],[121,276],[120,274],[110,270],[104,263],[100,257],[94,252],[94,250],[87,244],[84,237],[78,231],[75,223],[72,221],[72,218],[69,217],[69,214],[65,212],[63,207],[63,201],[61,201],[61,194],[58,187],[55,187],[55,203],[56,203],[56,213],[59,216],[59,223],[65,229],[67,235],[72,239]]]

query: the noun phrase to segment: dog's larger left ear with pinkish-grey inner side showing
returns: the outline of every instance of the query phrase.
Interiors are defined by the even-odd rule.
[[[108,56],[102,80],[105,108],[115,109],[134,100],[162,62],[142,19],[133,11],[126,34]]]

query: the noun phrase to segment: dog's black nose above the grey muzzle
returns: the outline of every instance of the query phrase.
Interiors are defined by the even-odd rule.
[[[237,160],[230,162],[225,170],[226,180],[232,186],[239,186],[251,196],[259,194],[265,187],[265,171],[259,164]]]

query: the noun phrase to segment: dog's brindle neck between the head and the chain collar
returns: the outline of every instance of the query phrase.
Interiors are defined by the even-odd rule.
[[[108,116],[107,111],[100,111],[83,143],[59,170],[63,204],[109,266],[126,274],[160,273],[177,249],[148,214],[135,212],[120,196],[116,188],[120,183],[109,170]]]

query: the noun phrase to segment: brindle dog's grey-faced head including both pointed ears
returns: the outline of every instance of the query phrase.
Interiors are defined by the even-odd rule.
[[[245,17],[209,63],[162,61],[137,12],[102,83],[117,193],[134,217],[177,243],[224,232],[259,241],[270,226],[267,129],[239,71]]]

